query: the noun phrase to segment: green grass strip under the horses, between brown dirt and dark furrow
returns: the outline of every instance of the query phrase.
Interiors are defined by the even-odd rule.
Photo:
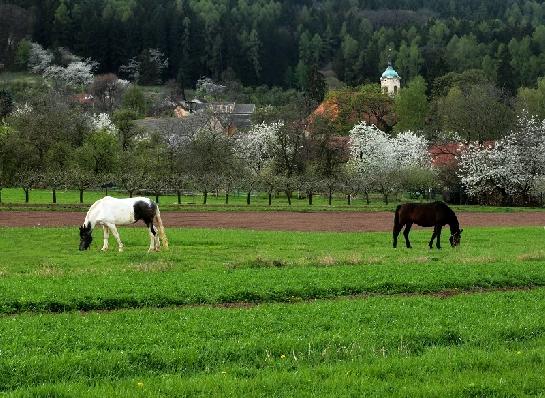
[[[122,230],[124,253],[98,252],[100,239],[82,253],[74,229],[4,228],[0,313],[545,286],[543,233],[472,229],[461,248],[430,251],[427,231],[393,250],[385,233],[172,229],[171,250],[149,254],[143,229]]]

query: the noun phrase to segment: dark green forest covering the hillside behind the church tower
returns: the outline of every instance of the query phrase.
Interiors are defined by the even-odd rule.
[[[404,82],[484,70],[514,93],[545,69],[545,4],[532,0],[0,0],[0,63],[17,43],[65,47],[120,68],[147,49],[165,80],[300,88],[312,66],[348,85],[376,82],[388,58]],[[6,44],[7,43],[7,44]]]

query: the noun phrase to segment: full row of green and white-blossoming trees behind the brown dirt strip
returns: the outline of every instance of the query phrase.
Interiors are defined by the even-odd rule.
[[[269,120],[234,136],[221,115],[156,119],[151,126],[133,120],[129,108],[89,116],[79,105],[50,93],[16,106],[0,128],[0,188],[18,186],[83,192],[102,185],[133,195],[197,190],[313,195],[343,192],[350,200],[372,192],[387,203],[392,195],[464,188],[474,200],[528,204],[545,188],[545,124],[523,115],[496,141],[457,143],[456,162],[433,165],[422,134],[388,134],[362,122],[349,137],[335,134],[329,118],[309,121],[303,107],[277,109]],[[128,115],[128,117],[127,117]]]

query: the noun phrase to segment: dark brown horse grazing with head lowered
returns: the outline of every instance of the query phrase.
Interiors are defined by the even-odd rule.
[[[433,248],[433,240],[437,238],[436,246],[441,248],[441,228],[448,224],[450,226],[450,245],[452,247],[460,244],[463,229],[460,229],[460,223],[456,214],[443,202],[434,203],[405,203],[396,208],[394,217],[394,248],[397,247],[397,237],[403,226],[403,236],[407,247],[411,248],[409,242],[409,232],[413,224],[421,227],[433,227],[433,235],[430,240],[430,249]]]

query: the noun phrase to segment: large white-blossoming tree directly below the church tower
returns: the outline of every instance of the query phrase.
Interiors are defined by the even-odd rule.
[[[390,137],[374,125],[359,123],[350,130],[349,167],[388,197],[402,186],[404,172],[430,166],[424,137],[407,131]]]

